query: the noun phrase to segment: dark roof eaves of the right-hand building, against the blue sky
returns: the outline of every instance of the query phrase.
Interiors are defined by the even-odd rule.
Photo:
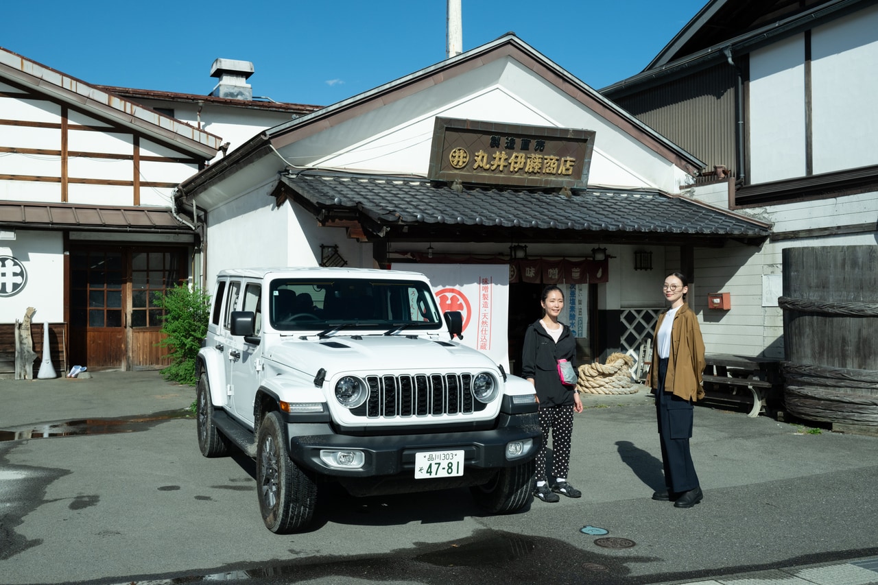
[[[630,76],[601,89],[601,94],[615,99],[630,91],[636,91],[644,86],[658,83],[666,76],[680,75],[689,70],[698,70],[721,61],[733,60],[738,54],[745,54],[753,49],[768,45],[779,38],[783,38],[796,32],[812,28],[815,23],[826,18],[836,18],[853,10],[863,0],[835,0],[829,4],[822,4],[810,11],[804,11],[793,17],[783,18],[770,25],[762,26],[737,37],[723,40],[712,47],[708,47],[694,54],[687,54],[679,59],[669,61],[673,57],[673,51],[669,48],[676,46],[676,41],[681,35],[691,33],[692,26],[704,26],[709,22],[713,10],[721,7],[726,0],[715,0],[707,4],[698,15],[693,18],[684,29],[674,37],[674,40],[662,50],[662,52],[646,69],[635,76]],[[874,0],[873,0],[874,1]]]

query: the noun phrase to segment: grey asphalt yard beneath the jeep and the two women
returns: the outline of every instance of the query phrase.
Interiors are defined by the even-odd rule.
[[[178,415],[191,389],[132,375],[112,395],[88,380],[39,393],[0,380],[0,430],[18,431],[0,432],[0,582],[635,585],[878,554],[878,438],[697,408],[704,502],[675,509],[650,499],[662,480],[644,396],[589,401],[576,416],[579,500],[483,516],[466,490],[357,499],[326,488],[312,531],[275,535],[249,459],[205,459],[194,420],[155,416]],[[65,411],[120,418],[40,424]]]

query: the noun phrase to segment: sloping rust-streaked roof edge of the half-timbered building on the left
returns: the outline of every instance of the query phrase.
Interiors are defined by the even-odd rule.
[[[207,159],[219,151],[219,136],[169,118],[0,47],[0,78],[4,77],[62,102],[101,112],[121,126],[162,137]]]

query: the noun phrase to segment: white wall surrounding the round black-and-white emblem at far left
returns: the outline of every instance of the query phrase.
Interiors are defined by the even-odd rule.
[[[64,321],[64,249],[60,232],[15,230],[15,240],[0,240],[0,256],[13,256],[25,265],[25,288],[0,299],[0,322],[14,323],[34,307],[32,322]],[[40,332],[42,329],[40,329]]]

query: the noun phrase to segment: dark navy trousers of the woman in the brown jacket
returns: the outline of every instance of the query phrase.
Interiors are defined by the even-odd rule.
[[[659,420],[661,460],[665,467],[665,485],[673,492],[698,488],[698,475],[689,451],[692,437],[691,401],[665,392],[667,359],[659,359],[659,387],[656,389],[656,416]]]

